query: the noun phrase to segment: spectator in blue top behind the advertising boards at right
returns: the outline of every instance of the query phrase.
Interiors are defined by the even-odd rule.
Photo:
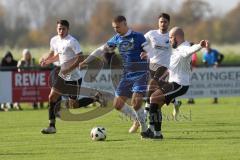
[[[203,63],[206,67],[217,68],[222,62],[223,58],[223,54],[219,53],[216,49],[212,49],[210,43],[206,48],[206,51],[203,53]],[[213,103],[218,103],[217,97],[214,97]]]

